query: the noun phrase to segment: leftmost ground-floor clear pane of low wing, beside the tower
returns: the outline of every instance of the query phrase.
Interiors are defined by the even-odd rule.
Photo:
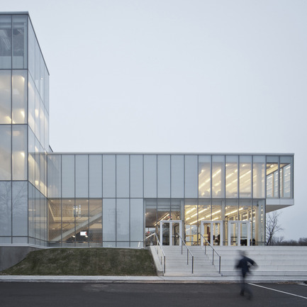
[[[48,201],[48,240],[61,241],[61,200],[50,199]],[[66,219],[66,218],[65,218]]]

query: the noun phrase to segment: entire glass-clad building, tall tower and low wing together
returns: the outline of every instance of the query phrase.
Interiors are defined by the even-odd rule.
[[[55,153],[28,13],[0,14],[0,245],[264,245],[294,204],[293,154]]]

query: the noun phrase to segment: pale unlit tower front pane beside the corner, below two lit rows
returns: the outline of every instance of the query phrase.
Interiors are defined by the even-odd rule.
[[[13,235],[28,236],[28,182],[12,183]]]

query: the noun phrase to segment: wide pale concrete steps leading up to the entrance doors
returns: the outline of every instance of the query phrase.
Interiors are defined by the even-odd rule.
[[[189,246],[194,255],[194,273],[191,271],[191,255],[186,263],[186,247],[163,246],[166,257],[164,276],[225,276],[235,277],[240,273],[235,265],[240,259],[240,250],[245,250],[247,257],[257,263],[251,269],[254,277],[306,277],[307,247],[303,246],[215,246],[221,256],[221,274],[218,273],[218,256],[214,254],[212,264],[211,247]],[[150,247],[156,267],[163,271],[162,258],[157,256],[157,247]]]

